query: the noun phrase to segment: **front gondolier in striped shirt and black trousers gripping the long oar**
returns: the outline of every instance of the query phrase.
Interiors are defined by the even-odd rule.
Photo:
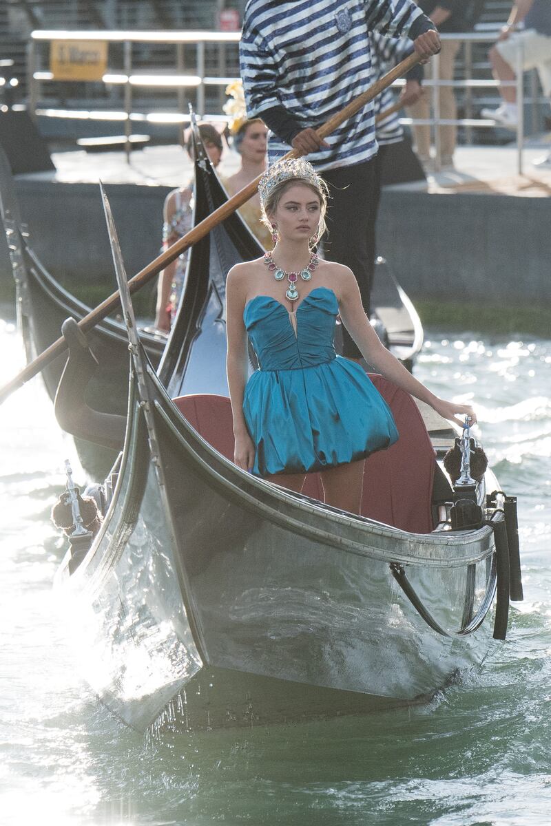
[[[373,103],[327,140],[315,129],[373,81],[370,31],[409,37],[425,59],[439,50],[434,24],[412,0],[249,0],[240,43],[247,112],[271,131],[269,161],[292,146],[323,173],[332,196],[328,254],[355,273],[365,311],[373,272],[367,251],[377,154]],[[359,357],[348,335],[344,354]]]

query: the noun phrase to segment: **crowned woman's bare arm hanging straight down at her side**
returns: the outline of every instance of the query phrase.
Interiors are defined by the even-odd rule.
[[[246,266],[246,264],[236,264],[232,267],[226,282],[226,334],[228,339],[226,373],[231,412],[234,418],[234,461],[239,468],[251,470],[254,465],[254,444],[243,415],[243,396],[249,368],[247,331],[243,320],[246,296],[243,276],[246,273]]]

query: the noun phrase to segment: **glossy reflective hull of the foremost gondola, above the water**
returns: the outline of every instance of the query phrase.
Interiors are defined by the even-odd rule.
[[[126,723],[143,729],[171,698],[192,728],[248,724],[248,709],[259,723],[373,710],[481,661],[489,619],[454,630],[491,605],[492,529],[408,534],[290,496],[216,453],[151,368],[147,382],[102,532],[59,574],[92,629],[88,680]],[[393,564],[450,636],[425,624]]]

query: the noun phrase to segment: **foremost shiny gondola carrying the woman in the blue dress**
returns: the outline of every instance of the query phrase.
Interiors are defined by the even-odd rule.
[[[88,491],[95,528],[69,475],[56,577],[102,702],[135,729],[159,714],[189,729],[278,723],[424,701],[477,666],[522,594],[515,500],[491,471],[470,478],[471,439],[452,487],[435,461],[449,426],[431,439],[411,397],[374,377],[405,435],[368,459],[363,515],[321,504],[315,475],[296,495],[242,472],[223,375],[231,221],[197,244],[155,371],[104,203],[131,346],[126,435]],[[70,385],[90,357],[69,333]]]

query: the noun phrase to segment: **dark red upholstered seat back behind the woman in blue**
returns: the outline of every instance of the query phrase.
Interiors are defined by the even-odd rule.
[[[432,530],[430,499],[435,451],[415,401],[408,393],[372,375],[375,387],[392,410],[400,438],[391,448],[373,453],[365,463],[362,515],[416,534]],[[233,459],[230,400],[225,396],[179,396],[178,410],[192,427],[226,458]],[[322,499],[319,473],[306,477],[303,493]]]

